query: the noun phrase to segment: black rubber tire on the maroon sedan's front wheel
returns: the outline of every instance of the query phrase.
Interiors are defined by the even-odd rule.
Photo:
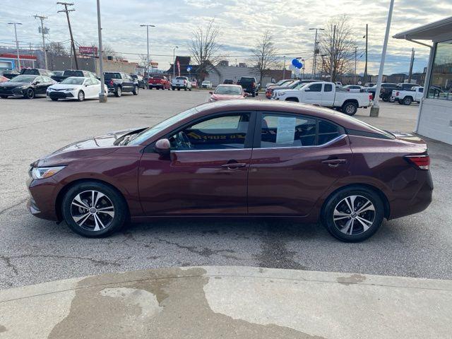
[[[99,198],[96,204],[97,208],[99,208],[98,206],[102,206],[102,203],[105,203],[105,201],[107,201],[107,205],[111,203],[114,208],[113,217],[107,217],[109,214],[106,213],[102,213],[102,215],[99,212],[95,213],[100,216],[97,220],[105,222],[105,224],[102,224],[105,228],[99,227],[100,230],[95,230],[95,224],[100,225],[100,223],[95,220],[96,216],[89,212],[90,208],[78,208],[72,204],[74,198],[76,198],[79,194],[81,194],[81,196],[85,194],[85,196],[89,197],[90,193],[86,194],[87,191],[97,191],[107,197]],[[95,194],[96,197],[97,195],[98,194]],[[91,203],[90,200],[91,199],[85,201],[83,199],[83,203],[89,207]],[[118,191],[113,189],[111,186],[100,182],[81,182],[72,186],[64,195],[61,210],[66,224],[71,228],[71,230],[73,230],[73,232],[83,235],[83,237],[107,237],[109,234],[120,230],[121,227],[124,226],[128,217],[127,205],[121,194],[119,194]],[[86,214],[84,214],[85,210]],[[78,220],[81,222],[81,225],[78,225],[76,220],[74,220],[74,214],[77,214],[76,216],[88,215],[88,217],[86,217],[86,220]]]

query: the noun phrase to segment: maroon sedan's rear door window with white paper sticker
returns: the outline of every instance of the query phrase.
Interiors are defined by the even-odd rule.
[[[316,119],[289,114],[263,114],[261,148],[312,146]]]

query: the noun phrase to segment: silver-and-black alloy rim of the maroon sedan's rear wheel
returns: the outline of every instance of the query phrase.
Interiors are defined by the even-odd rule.
[[[335,206],[333,222],[340,232],[347,235],[362,234],[375,220],[375,206],[364,196],[347,196]]]

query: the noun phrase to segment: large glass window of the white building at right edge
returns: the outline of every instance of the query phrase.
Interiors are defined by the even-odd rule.
[[[438,42],[427,97],[452,100],[452,40]]]

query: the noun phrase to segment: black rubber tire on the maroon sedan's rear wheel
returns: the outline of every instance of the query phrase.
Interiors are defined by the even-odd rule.
[[[355,210],[365,208],[366,205],[364,204],[364,201],[370,201],[374,207],[374,210],[365,210],[359,214],[355,213],[355,210],[352,210],[350,215],[354,213],[357,216],[354,216],[353,218],[351,216],[345,216],[348,214],[347,212],[349,212],[349,210],[344,202],[344,199],[350,196],[357,196],[353,203],[353,205],[356,206]],[[349,198],[349,202],[350,201],[351,200]],[[360,203],[363,203],[364,205],[359,205]],[[345,213],[339,214],[341,213],[341,210],[344,210],[343,208],[345,208]],[[338,219],[336,220],[333,218],[335,210],[337,211],[336,213],[338,213],[336,216]],[[363,240],[368,239],[379,229],[381,223],[383,222],[383,218],[383,201],[381,201],[379,194],[376,194],[375,191],[368,189],[365,186],[349,186],[335,192],[328,198],[326,203],[323,205],[322,210],[323,225],[326,227],[328,232],[333,235],[333,237],[343,242],[362,242]],[[367,222],[361,222],[359,219],[368,221],[371,220],[371,224],[369,225]],[[351,224],[347,225],[349,221]],[[369,225],[367,229],[364,229],[363,223],[365,225]],[[347,226],[349,228],[345,229]],[[345,232],[343,232],[344,230]],[[348,234],[350,232],[352,234]]]

